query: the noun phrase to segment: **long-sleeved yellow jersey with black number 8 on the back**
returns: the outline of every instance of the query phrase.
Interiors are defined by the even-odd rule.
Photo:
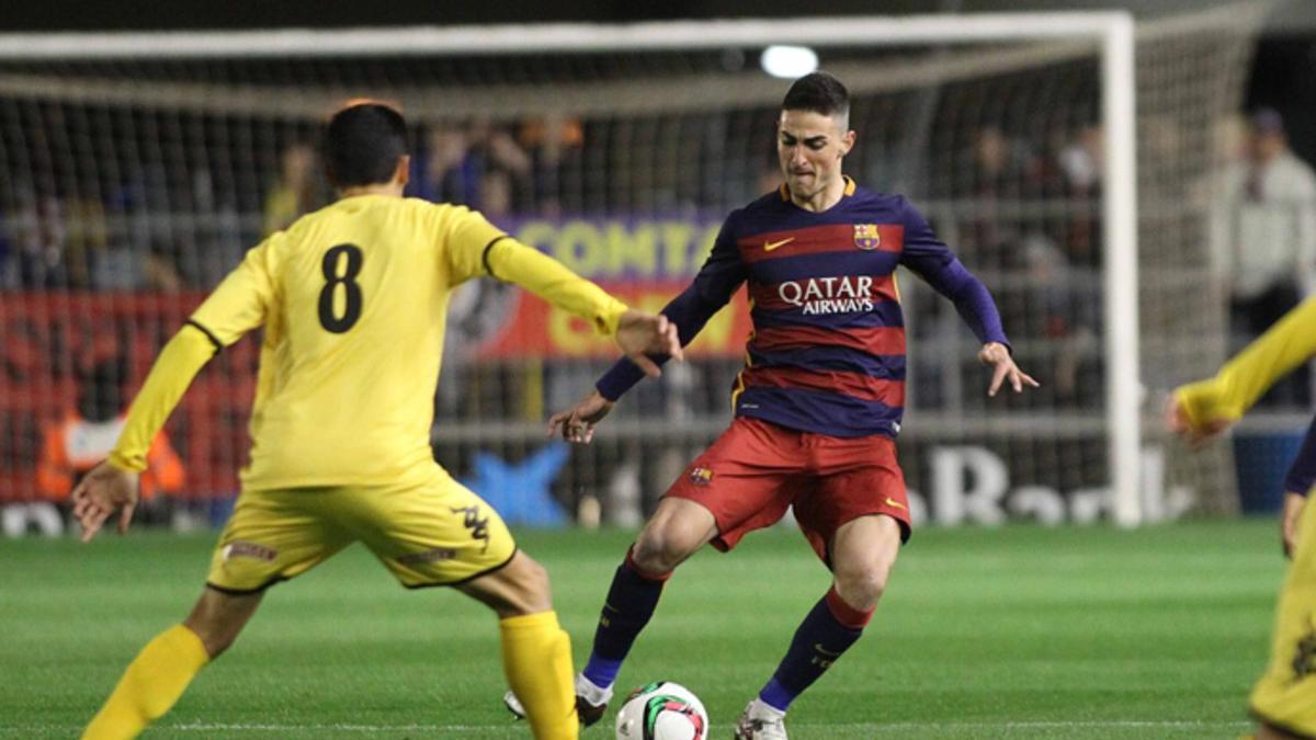
[[[605,333],[626,309],[465,207],[345,198],[251,249],[196,309],[188,324],[213,348],[203,352],[197,332],[170,342],[191,349],[166,346],[111,462],[145,467],[142,436],[163,424],[192,375],[263,325],[243,489],[424,481],[437,465],[429,438],[449,296],[491,273]]]

